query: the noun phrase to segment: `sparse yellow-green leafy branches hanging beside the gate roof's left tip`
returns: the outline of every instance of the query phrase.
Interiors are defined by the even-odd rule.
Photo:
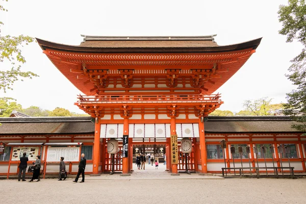
[[[8,0],[6,0],[7,2]],[[0,5],[0,11],[8,11]],[[4,23],[0,21],[0,25]],[[23,81],[24,78],[38,77],[37,74],[31,71],[22,71],[21,65],[25,63],[25,59],[21,53],[21,47],[33,42],[34,38],[30,36],[2,36],[0,30],[0,90],[4,92],[7,89],[13,89],[13,84],[19,79]],[[5,67],[5,62],[11,63],[10,67]]]

